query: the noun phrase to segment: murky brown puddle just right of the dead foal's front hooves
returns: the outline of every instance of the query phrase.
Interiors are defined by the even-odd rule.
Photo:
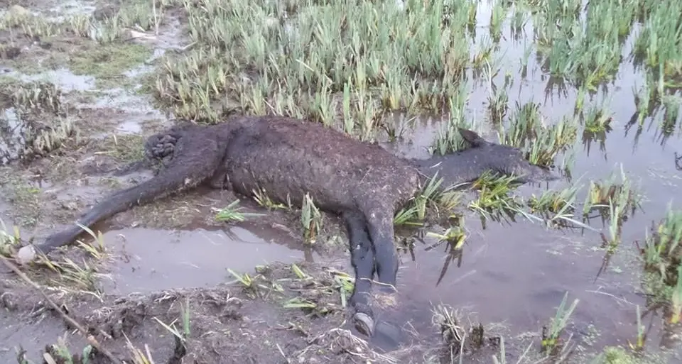
[[[473,314],[474,323],[500,323],[514,335],[539,333],[568,292],[568,304],[580,299],[570,331],[588,335],[594,324],[604,343],[632,339],[635,304],[643,306],[644,299],[633,293],[637,282],[621,265],[626,262],[612,262],[614,269],[597,278],[598,236],[547,231],[541,224],[489,223],[483,230],[476,216],[469,217],[461,259],[448,255],[445,243],[429,249],[437,243],[433,238],[416,243],[414,260],[403,255],[399,307],[386,311],[388,321],[409,321],[420,335],[431,336],[436,332],[431,307],[446,304]]]

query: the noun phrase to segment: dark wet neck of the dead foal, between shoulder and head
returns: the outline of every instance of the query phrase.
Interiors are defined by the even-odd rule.
[[[472,153],[476,152],[476,153]],[[423,160],[411,160],[426,178],[442,178],[443,188],[473,182],[489,170],[481,150],[463,150],[448,155],[432,155]]]

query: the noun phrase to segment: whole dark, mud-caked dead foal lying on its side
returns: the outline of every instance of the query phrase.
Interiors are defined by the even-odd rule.
[[[318,123],[278,116],[244,116],[216,126],[185,124],[148,138],[148,158],[166,168],[151,180],[115,192],[87,211],[85,226],[134,204],[209,182],[245,195],[264,191],[277,202],[301,205],[305,194],[345,221],[356,285],[350,305],[355,319],[372,332],[367,303],[369,282],[395,286],[398,257],[394,246],[396,209],[438,172],[445,185],[470,182],[492,170],[519,180],[546,180],[551,174],[530,165],[521,152],[461,131],[473,148],[429,160],[405,160],[378,145],[362,143]],[[82,229],[72,226],[49,236],[38,248],[50,250],[73,241]],[[369,326],[369,327],[367,327]]]

